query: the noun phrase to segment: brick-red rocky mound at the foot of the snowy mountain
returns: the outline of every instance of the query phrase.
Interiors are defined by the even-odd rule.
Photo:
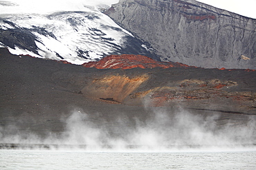
[[[121,68],[122,70],[131,69],[134,67],[140,67],[140,68],[191,67],[189,65],[185,65],[182,63],[154,61],[153,59],[151,59],[147,56],[130,55],[130,54],[106,56],[105,58],[101,59],[100,61],[91,61],[89,63],[84,63],[83,66],[84,67],[95,67],[98,69]]]

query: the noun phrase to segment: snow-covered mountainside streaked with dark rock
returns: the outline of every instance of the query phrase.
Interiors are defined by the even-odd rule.
[[[1,12],[0,47],[8,47],[12,54],[29,54],[74,64],[97,61],[109,54],[154,56],[147,45],[120,28],[99,8],[80,5],[82,8],[74,11]],[[15,6],[17,3],[0,1],[2,9]],[[107,7],[100,5],[100,8]]]

